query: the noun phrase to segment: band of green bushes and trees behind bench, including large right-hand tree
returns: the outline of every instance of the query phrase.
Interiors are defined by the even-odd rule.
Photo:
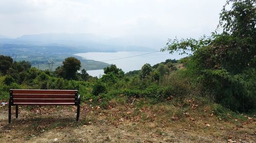
[[[162,49],[181,54],[191,50],[192,55],[153,66],[145,64],[141,70],[126,74],[115,65],[104,68],[100,78],[89,76],[85,69],[79,73],[81,62],[74,57],[66,58],[54,72],[38,70],[29,62],[13,62],[1,55],[0,98],[7,100],[9,89],[67,89],[78,90],[83,103],[101,108],[108,108],[113,99],[130,102],[137,98],[152,105],[175,101],[174,105],[182,105],[185,112],[186,100],[195,98],[202,104],[220,104],[211,107],[218,116],[229,109],[254,113],[255,3],[228,3],[232,4],[231,10],[224,6],[220,16],[223,33],[199,40],[169,40]]]

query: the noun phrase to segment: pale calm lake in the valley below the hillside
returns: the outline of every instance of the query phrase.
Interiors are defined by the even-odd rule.
[[[181,59],[187,55],[179,55],[178,53],[169,54],[168,52],[133,52],[133,51],[119,51],[119,52],[87,52],[76,53],[83,59],[95,60],[105,62],[108,64],[115,64],[121,68],[125,73],[133,70],[140,70],[141,67],[148,63],[151,66],[164,62],[166,59]],[[103,70],[89,70],[87,71],[91,76],[98,76],[103,74]]]

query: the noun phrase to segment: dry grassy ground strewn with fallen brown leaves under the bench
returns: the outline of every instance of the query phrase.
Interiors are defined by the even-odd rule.
[[[119,97],[108,109],[84,104],[75,122],[71,106],[21,107],[8,124],[0,107],[0,139],[5,142],[231,142],[256,140],[255,117],[222,112],[218,104],[193,97],[152,104]],[[14,111],[14,108],[13,108]]]

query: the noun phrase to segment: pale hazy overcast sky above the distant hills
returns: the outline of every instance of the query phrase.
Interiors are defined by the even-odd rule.
[[[215,31],[225,0],[1,0],[0,34],[93,33],[166,40]]]

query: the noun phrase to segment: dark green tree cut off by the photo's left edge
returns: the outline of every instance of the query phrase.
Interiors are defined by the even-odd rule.
[[[0,72],[6,74],[12,63],[13,60],[10,56],[0,55]]]

